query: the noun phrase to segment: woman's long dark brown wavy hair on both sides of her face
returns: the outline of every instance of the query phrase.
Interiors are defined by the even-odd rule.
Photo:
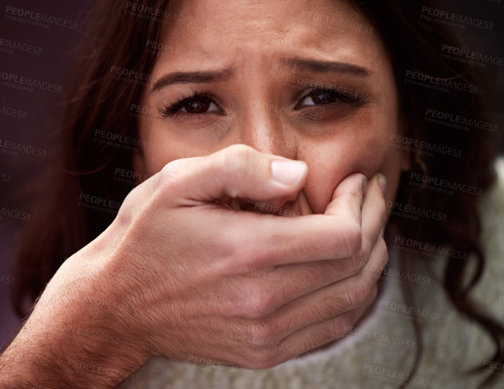
[[[412,151],[413,173],[420,174],[420,177],[449,179],[483,191],[489,188],[494,181],[492,136],[495,134],[474,126],[468,130],[439,127],[439,124],[425,120],[428,109],[460,115],[469,121],[483,120],[481,93],[468,93],[457,88],[450,88],[446,93],[403,82],[406,75],[414,71],[439,80],[478,85],[477,74],[470,65],[439,55],[445,44],[457,47],[457,40],[446,25],[421,18],[422,8],[435,8],[434,3],[418,0],[346,1],[370,21],[387,47],[402,112],[408,123],[406,137],[462,151],[460,158],[442,152],[421,154],[419,158],[420,154]],[[141,10],[141,6],[164,10],[168,2],[137,0],[137,3],[137,10]],[[23,304],[26,298],[34,302],[65,258],[95,239],[114,219],[113,214],[78,206],[79,194],[89,193],[120,203],[131,190],[126,185],[112,185],[111,181],[115,168],[131,170],[131,151],[93,141],[94,132],[106,129],[122,136],[135,136],[136,119],[128,114],[128,110],[130,104],[139,102],[142,86],[117,82],[109,76],[110,68],[117,66],[149,73],[156,52],[145,50],[146,42],[159,41],[161,25],[155,19],[143,18],[138,11],[125,13],[124,10],[123,0],[97,2],[79,51],[74,77],[70,80],[65,118],[58,129],[60,159],[54,170],[47,173],[54,184],[40,194],[41,206],[35,208],[40,213],[34,215],[37,217],[33,217],[23,231],[17,257],[18,282],[12,302],[22,317],[29,313]],[[488,359],[504,363],[504,328],[482,312],[469,296],[485,264],[476,207],[479,197],[422,190],[423,181],[420,187],[412,186],[409,185],[410,177],[411,173],[404,173],[401,177],[397,201],[438,210],[449,217],[446,221],[419,218],[413,222],[392,216],[391,221],[400,226],[404,236],[467,253],[466,260],[447,259],[444,288],[459,312],[482,326],[494,340],[496,351]],[[429,261],[428,258],[424,260]],[[407,269],[411,261],[412,258],[405,257],[401,264]],[[476,261],[476,266],[471,266],[471,261]],[[405,283],[404,292],[407,300],[412,301],[411,285]],[[420,346],[412,366],[415,371],[422,342],[420,325],[417,322],[413,325]],[[495,378],[492,374],[482,384]]]

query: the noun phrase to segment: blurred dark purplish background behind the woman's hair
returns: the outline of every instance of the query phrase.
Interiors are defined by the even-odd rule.
[[[41,48],[41,54],[13,49],[13,53],[0,51],[0,71],[27,76],[41,82],[48,82],[65,89],[65,80],[70,59],[78,53],[79,42],[83,39],[84,29],[81,24],[87,11],[96,0],[0,0],[0,40],[20,42]],[[98,0],[107,1],[107,0]],[[337,0],[336,0],[337,1]],[[407,0],[405,0],[407,1]],[[502,0],[504,3],[504,0]],[[504,4],[489,0],[478,1],[440,1],[439,9],[493,22],[493,29],[467,25],[465,29],[454,28],[453,32],[464,42],[463,48],[483,55],[504,58]],[[70,29],[51,24],[49,28],[25,24],[6,17],[8,6],[51,17],[67,19],[79,23],[77,29]],[[119,11],[118,11],[119,12]],[[394,23],[391,20],[391,23]],[[400,31],[398,31],[400,34]],[[0,41],[1,42],[1,41]],[[0,44],[0,49],[6,48]],[[496,95],[497,99],[488,99],[487,121],[498,125],[495,140],[500,153],[504,152],[504,66],[486,64],[479,68],[481,85],[478,93]],[[0,80],[0,82],[3,80]],[[489,91],[493,91],[492,94]],[[0,209],[20,210],[37,217],[37,209],[30,208],[29,197],[33,193],[20,190],[29,181],[37,185],[51,185],[50,180],[36,181],[40,172],[54,158],[53,128],[60,120],[63,94],[34,88],[33,92],[18,90],[0,85],[0,110],[2,107],[26,112],[26,118],[0,113],[0,139],[14,141],[26,146],[45,149],[46,157],[24,152],[19,155],[0,153]],[[423,118],[419,118],[423,120]],[[10,176],[10,182],[2,181],[2,175]],[[28,199],[28,201],[27,201]],[[28,204],[28,205],[27,205]],[[9,295],[12,292],[14,251],[18,242],[17,232],[26,220],[4,216],[0,219],[0,345],[3,345],[19,324],[19,320],[10,306]],[[22,244],[22,243],[21,243]],[[2,276],[5,276],[2,278]],[[7,282],[8,278],[9,282]],[[15,282],[15,281],[14,281]]]

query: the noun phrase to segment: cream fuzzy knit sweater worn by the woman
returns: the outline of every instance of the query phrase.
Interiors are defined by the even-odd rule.
[[[498,181],[480,201],[483,243],[487,266],[473,297],[487,312],[504,322],[504,160],[496,162]],[[397,388],[409,374],[418,344],[412,328],[410,309],[421,315],[423,356],[414,381],[408,387],[470,389],[488,376],[464,372],[489,358],[494,352],[489,337],[456,313],[435,280],[444,261],[439,258],[428,271],[418,261],[416,274],[396,276],[397,248],[390,247],[388,277],[383,292],[376,297],[368,315],[331,347],[294,358],[271,369],[253,374],[244,369],[201,366],[154,358],[137,371],[138,382],[123,382],[121,388],[150,389],[323,389],[323,388]],[[405,304],[400,283],[413,282],[418,301]],[[499,299],[502,298],[502,301]],[[405,308],[398,304],[406,305]],[[234,370],[234,371],[233,371]],[[499,370],[504,376],[504,369]],[[253,375],[253,376],[250,376]],[[396,381],[398,380],[398,381]],[[504,387],[504,378],[493,385]]]

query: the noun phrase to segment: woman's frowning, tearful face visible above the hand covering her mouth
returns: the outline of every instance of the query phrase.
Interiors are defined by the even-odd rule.
[[[408,158],[389,146],[403,132],[392,64],[349,5],[175,1],[164,17],[160,42],[147,42],[159,55],[140,105],[154,113],[138,119],[138,137],[166,152],[144,149],[136,171],[244,143],[308,164],[306,186],[284,209],[324,213],[352,173],[382,172],[386,199],[395,197]]]

